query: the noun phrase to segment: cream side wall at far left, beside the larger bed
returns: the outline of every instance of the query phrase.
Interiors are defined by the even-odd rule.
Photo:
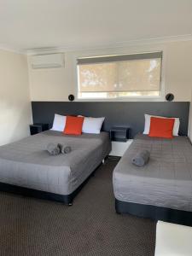
[[[28,136],[31,123],[26,55],[0,50],[0,145]]]

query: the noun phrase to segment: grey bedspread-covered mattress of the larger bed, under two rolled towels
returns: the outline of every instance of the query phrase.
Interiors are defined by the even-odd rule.
[[[48,143],[63,143],[70,154],[49,155]],[[44,131],[0,147],[0,182],[70,195],[111,150],[108,132],[67,136]]]

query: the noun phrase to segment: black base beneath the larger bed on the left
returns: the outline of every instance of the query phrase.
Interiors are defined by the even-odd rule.
[[[97,166],[96,169],[99,166]],[[95,175],[95,172],[96,170],[91,172],[90,176],[87,177],[84,180],[84,182],[81,183],[80,186],[77,189],[75,189],[72,194],[69,194],[69,195],[59,195],[59,194],[41,191],[37,189],[28,189],[28,188],[24,188],[16,185],[8,184],[8,183],[0,183],[0,191],[13,193],[16,195],[35,197],[35,198],[49,200],[49,201],[58,201],[58,202],[64,203],[67,206],[72,206],[74,197],[79,194],[79,191],[83,189],[84,185],[88,182],[90,177]]]

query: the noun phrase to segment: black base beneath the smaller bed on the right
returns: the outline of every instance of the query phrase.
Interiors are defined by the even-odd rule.
[[[175,224],[192,226],[192,212],[142,205],[132,202],[119,201],[115,199],[115,210],[117,213],[129,213],[137,217],[163,220]]]

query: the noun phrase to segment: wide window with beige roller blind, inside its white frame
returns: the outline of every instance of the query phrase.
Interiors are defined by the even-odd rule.
[[[78,59],[78,97],[160,96],[162,52]]]

